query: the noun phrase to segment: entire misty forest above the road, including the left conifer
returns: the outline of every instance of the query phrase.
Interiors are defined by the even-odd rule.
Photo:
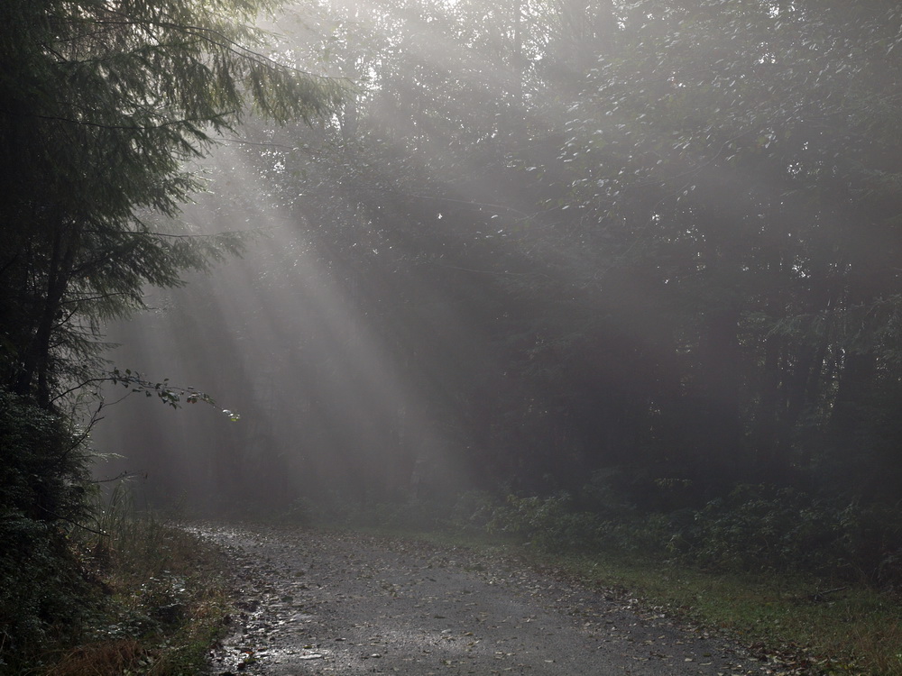
[[[308,0],[261,51],[159,5],[0,9],[5,579],[94,449],[157,506],[902,583],[897,2]]]

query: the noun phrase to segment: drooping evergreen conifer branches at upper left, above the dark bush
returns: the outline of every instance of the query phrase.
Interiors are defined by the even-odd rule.
[[[49,407],[97,366],[100,322],[145,284],[235,253],[156,229],[202,187],[184,169],[253,105],[277,121],[336,104],[333,80],[262,49],[266,2],[5,3],[0,10],[0,382]],[[171,223],[171,222],[170,222]],[[87,366],[87,369],[85,368]]]

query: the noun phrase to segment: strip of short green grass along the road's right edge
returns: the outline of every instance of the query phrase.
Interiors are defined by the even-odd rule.
[[[902,676],[902,604],[866,584],[704,571],[654,557],[549,553],[478,531],[354,528],[514,558],[735,638],[773,673]],[[841,589],[842,588],[842,589]],[[777,667],[777,662],[782,664]],[[782,671],[781,671],[782,669]]]

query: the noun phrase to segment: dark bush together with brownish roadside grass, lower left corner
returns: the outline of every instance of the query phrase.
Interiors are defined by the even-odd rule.
[[[67,416],[0,388],[0,675],[198,673],[225,558],[99,490],[91,461]]]

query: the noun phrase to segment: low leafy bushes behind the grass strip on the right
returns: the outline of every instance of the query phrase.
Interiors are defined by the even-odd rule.
[[[584,492],[597,494],[594,482]],[[458,530],[507,534],[557,551],[668,556],[717,571],[813,573],[902,589],[902,510],[814,498],[767,485],[742,485],[701,509],[643,513],[629,502],[570,494],[458,499]]]

